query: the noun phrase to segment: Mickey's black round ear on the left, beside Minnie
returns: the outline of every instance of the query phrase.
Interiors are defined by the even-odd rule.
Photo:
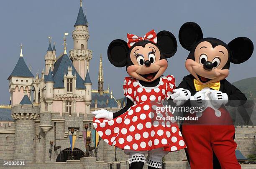
[[[203,38],[202,30],[195,22],[186,22],[179,29],[179,42],[186,50],[191,50]]]

